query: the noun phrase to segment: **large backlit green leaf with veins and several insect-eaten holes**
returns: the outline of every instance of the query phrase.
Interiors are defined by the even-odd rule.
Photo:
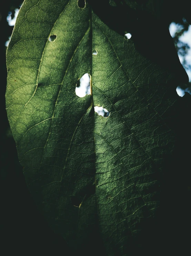
[[[71,248],[103,242],[103,255],[128,255],[158,214],[178,96],[171,74],[102,20],[77,0],[24,1],[7,50],[7,112],[26,183],[52,229]],[[91,95],[80,98],[85,73]]]

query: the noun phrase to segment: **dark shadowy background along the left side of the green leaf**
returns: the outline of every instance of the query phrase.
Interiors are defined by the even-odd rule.
[[[16,143],[13,140],[7,119],[5,92],[7,84],[5,42],[12,34],[13,26],[7,22],[8,11],[19,8],[20,0],[6,0],[0,9],[0,65],[1,65],[1,251],[2,255],[19,253],[29,255],[43,254],[66,250],[63,239],[54,234],[37,210],[28,191],[22,166],[17,156]],[[57,253],[56,253],[57,254]]]

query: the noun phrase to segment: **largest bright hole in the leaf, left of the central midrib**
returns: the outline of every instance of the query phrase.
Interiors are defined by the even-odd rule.
[[[76,95],[80,98],[90,94],[90,75],[84,74],[76,83]]]

